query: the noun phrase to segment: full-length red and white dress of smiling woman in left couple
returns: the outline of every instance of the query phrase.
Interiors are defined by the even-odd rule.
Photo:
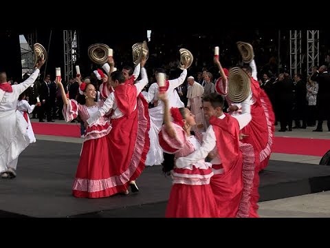
[[[63,107],[65,121],[69,122],[78,115],[85,122],[91,114],[102,107],[103,101],[95,106],[86,107],[75,100],[69,100]],[[124,187],[117,185],[109,172],[109,141],[111,131],[109,118],[101,117],[94,125],[87,127],[72,193],[78,198],[103,198],[123,192]]]

